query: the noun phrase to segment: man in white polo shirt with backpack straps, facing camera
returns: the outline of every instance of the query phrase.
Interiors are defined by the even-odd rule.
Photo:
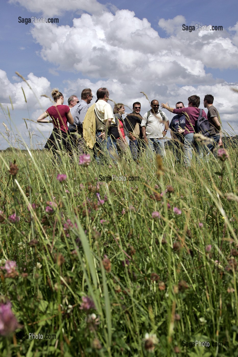
[[[167,134],[169,120],[164,112],[159,110],[158,100],[152,100],[151,109],[143,116],[142,135],[148,148],[164,157],[164,136]]]

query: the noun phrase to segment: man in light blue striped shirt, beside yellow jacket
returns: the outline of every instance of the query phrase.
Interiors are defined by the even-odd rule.
[[[78,132],[78,134],[81,135],[81,138],[78,138],[76,135],[72,135],[73,140],[76,140],[76,145],[78,146],[80,154],[84,152],[83,121],[89,108],[88,105],[92,99],[93,96],[91,89],[85,88],[81,93],[81,100],[70,110],[74,118],[74,124],[69,126],[69,132],[71,134]]]

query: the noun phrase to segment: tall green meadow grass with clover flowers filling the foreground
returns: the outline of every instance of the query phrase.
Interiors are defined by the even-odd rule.
[[[237,149],[187,170],[169,150],[88,167],[13,150],[0,165],[1,301],[21,325],[1,356],[238,355]]]

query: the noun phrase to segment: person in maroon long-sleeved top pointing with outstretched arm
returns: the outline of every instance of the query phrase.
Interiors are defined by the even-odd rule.
[[[168,106],[168,103],[161,104],[161,107],[169,110],[174,114],[185,114],[185,129],[179,129],[178,132],[184,135],[184,161],[186,166],[191,165],[192,160],[192,149],[197,151],[200,158],[203,157],[202,147],[194,139],[195,134],[195,122],[198,120],[199,112],[198,109],[200,105],[200,97],[197,95],[192,95],[188,97],[188,108],[174,109]],[[207,115],[204,110],[202,110],[202,116],[207,119]]]

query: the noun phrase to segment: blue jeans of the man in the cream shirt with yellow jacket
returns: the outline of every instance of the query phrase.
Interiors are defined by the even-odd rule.
[[[111,139],[110,136],[107,136],[105,140],[102,140],[99,135],[101,132],[96,132],[96,142],[94,147],[94,158],[97,164],[101,164],[101,157],[106,153],[109,154],[111,159],[115,162],[115,158],[118,156],[116,149],[116,139]]]

